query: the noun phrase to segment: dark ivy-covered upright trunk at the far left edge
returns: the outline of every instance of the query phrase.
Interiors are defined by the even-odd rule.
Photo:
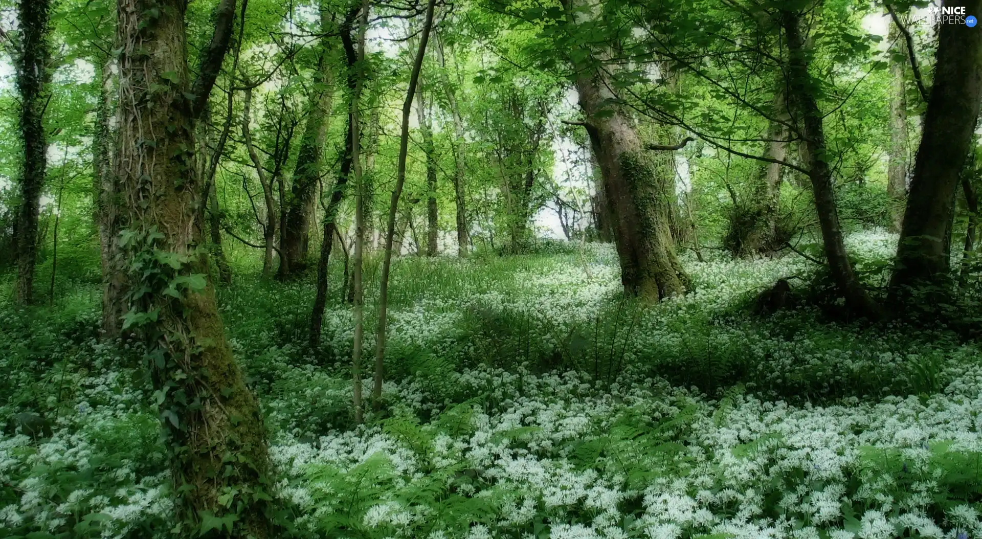
[[[21,176],[20,204],[14,229],[17,252],[17,302],[27,305],[33,298],[34,263],[37,258],[37,213],[47,168],[47,139],[44,108],[48,96],[49,0],[21,0],[18,26],[21,33],[19,54],[15,56],[18,93],[21,95],[21,139],[24,143],[24,171]]]

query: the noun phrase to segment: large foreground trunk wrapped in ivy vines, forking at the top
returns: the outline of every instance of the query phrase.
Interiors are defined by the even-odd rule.
[[[273,512],[265,428],[223,333],[197,211],[194,123],[228,50],[235,6],[219,3],[193,85],[202,93],[192,94],[186,2],[119,0],[114,167],[128,213],[127,324],[146,346],[177,497],[175,531],[196,534],[210,512],[233,516],[227,537],[264,538]]]

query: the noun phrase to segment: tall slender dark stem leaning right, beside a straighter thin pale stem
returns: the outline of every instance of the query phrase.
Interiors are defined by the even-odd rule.
[[[385,368],[386,345],[385,332],[387,329],[386,316],[389,312],[389,273],[392,270],[392,243],[396,235],[396,212],[399,208],[399,197],[403,194],[403,185],[406,183],[406,159],[409,153],[409,114],[412,112],[412,97],[416,93],[416,84],[419,82],[419,72],[423,66],[423,56],[426,54],[426,43],[429,41],[430,28],[433,27],[433,8],[435,4],[436,0],[429,0],[426,4],[426,20],[423,22],[423,28],[419,35],[419,48],[416,50],[416,56],[412,64],[412,73],[409,75],[409,89],[406,90],[406,101],[403,103],[403,131],[399,141],[396,189],[392,191],[392,201],[389,206],[389,223],[385,233],[385,252],[382,259],[382,278],[379,288],[378,333],[375,336],[375,378],[372,388],[372,402],[375,409],[378,409],[382,404],[382,379]],[[420,103],[420,107],[422,107],[422,103]],[[435,173],[436,171],[433,172]],[[434,178],[434,182],[435,180]],[[355,262],[355,269],[357,269],[357,262]]]

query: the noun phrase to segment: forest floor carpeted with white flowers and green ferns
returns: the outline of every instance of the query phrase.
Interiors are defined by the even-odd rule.
[[[874,285],[895,242],[848,239]],[[703,254],[684,256],[694,292],[649,308],[619,298],[607,245],[399,259],[384,411],[357,427],[340,277],[311,350],[312,284],[240,271],[222,315],[298,536],[982,537],[978,345],[812,308],[753,316],[760,291],[817,266]],[[164,536],[138,347],[99,342],[98,287],[72,291],[0,303],[0,535]],[[53,427],[28,436],[28,411]]]

